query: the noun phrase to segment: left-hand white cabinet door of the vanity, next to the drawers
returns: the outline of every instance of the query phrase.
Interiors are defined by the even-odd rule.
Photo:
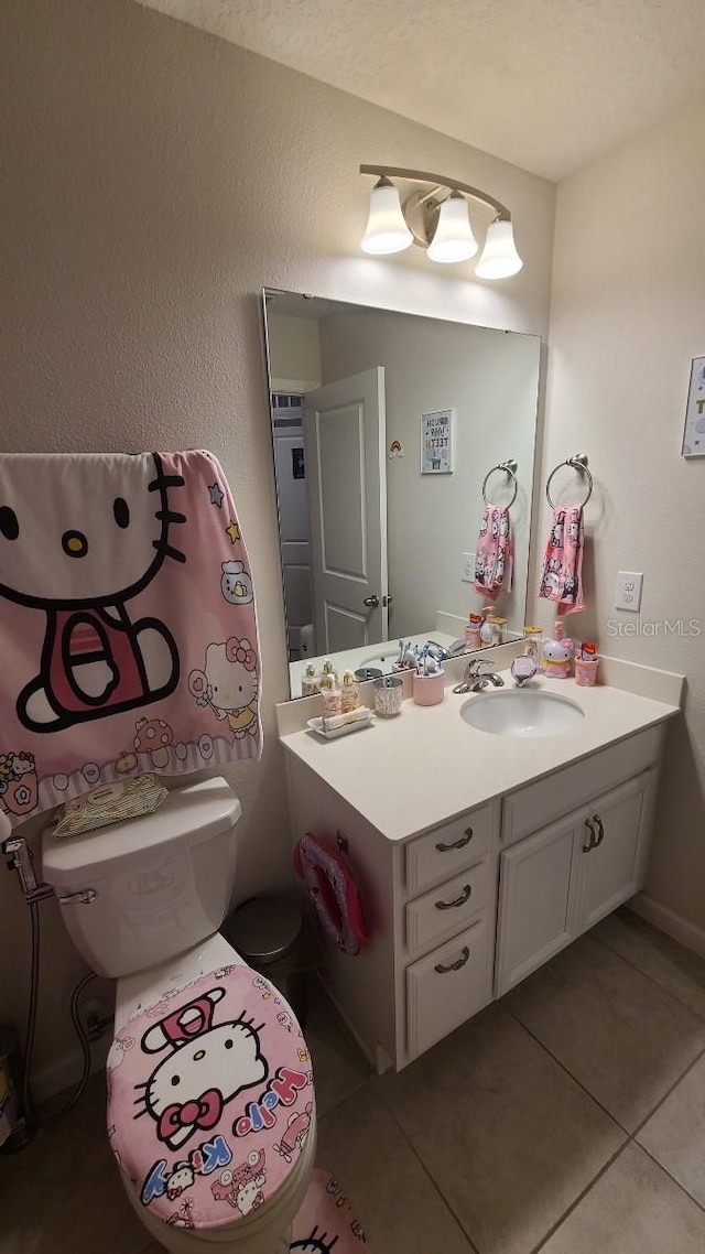
[[[577,872],[586,839],[585,818],[585,810],[576,811],[502,854],[498,997],[577,935]]]

